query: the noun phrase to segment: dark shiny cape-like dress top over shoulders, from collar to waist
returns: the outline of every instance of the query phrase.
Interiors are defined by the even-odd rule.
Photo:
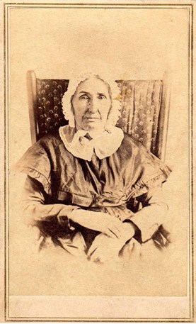
[[[114,139],[115,140],[115,139]],[[59,134],[47,135],[23,155],[17,169],[37,179],[52,199],[92,208],[122,206],[166,180],[170,169],[131,136],[102,160],[74,157]]]

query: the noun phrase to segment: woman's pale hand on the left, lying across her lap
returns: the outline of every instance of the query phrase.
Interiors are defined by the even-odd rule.
[[[85,228],[104,233],[110,238],[120,238],[123,232],[121,220],[108,213],[76,209],[69,213],[69,219]]]

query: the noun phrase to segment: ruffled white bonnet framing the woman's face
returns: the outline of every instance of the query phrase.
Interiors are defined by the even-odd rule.
[[[77,86],[85,81],[86,79],[97,78],[103,80],[103,82],[109,87],[109,93],[112,99],[112,106],[108,113],[107,127],[113,126],[117,123],[118,118],[120,117],[120,109],[121,109],[121,95],[120,95],[120,87],[117,82],[110,78],[105,78],[100,76],[99,74],[84,74],[81,77],[77,77],[69,80],[68,89],[62,97],[62,108],[64,113],[64,118],[69,121],[70,127],[75,127],[75,118],[74,111],[71,106],[71,96],[74,95]]]

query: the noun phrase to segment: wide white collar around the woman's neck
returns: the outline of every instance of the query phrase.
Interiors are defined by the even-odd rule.
[[[110,157],[120,147],[124,134],[113,126],[110,133],[106,130],[91,138],[86,130],[75,131],[69,125],[59,128],[59,135],[67,150],[80,159],[91,161],[93,152],[102,160]]]

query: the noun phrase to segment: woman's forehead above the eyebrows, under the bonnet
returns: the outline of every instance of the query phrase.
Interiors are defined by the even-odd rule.
[[[86,79],[79,83],[76,87],[76,93],[81,93],[82,91],[89,94],[105,94],[110,96],[110,87],[102,79],[92,77],[91,79]]]

